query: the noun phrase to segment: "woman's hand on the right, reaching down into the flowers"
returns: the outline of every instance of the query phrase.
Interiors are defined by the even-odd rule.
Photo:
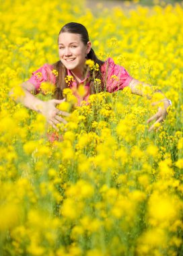
[[[148,131],[152,131],[153,129],[155,129],[155,127],[157,127],[157,124],[163,122],[163,120],[166,118],[166,116],[168,114],[167,109],[172,103],[168,99],[164,99],[163,101],[164,101],[164,106],[159,107],[157,113],[155,113],[155,115],[153,115],[153,117],[151,117],[147,120],[147,123],[151,123],[151,121],[156,120],[155,123],[153,125],[151,125],[151,127],[149,128]],[[152,105],[156,105],[157,103],[159,103],[159,102],[154,102]],[[159,128],[157,128],[157,130],[158,129]]]

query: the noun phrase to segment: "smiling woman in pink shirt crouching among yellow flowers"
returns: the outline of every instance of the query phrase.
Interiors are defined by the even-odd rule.
[[[126,86],[131,88],[133,94],[147,96],[143,93],[144,88],[150,88],[151,86],[133,79],[123,67],[115,65],[111,58],[107,61],[100,61],[96,57],[94,50],[91,49],[87,30],[83,25],[71,22],[63,26],[59,32],[58,45],[60,60],[53,65],[45,64],[33,72],[32,77],[22,84],[25,96],[20,99],[26,107],[42,113],[54,129],[57,129],[58,123],[66,123],[65,119],[60,115],[69,115],[56,108],[56,105],[64,100],[63,89],[69,86],[77,97],[78,105],[82,100],[87,101],[90,94],[101,90],[116,92]],[[100,79],[98,80],[100,81],[100,88],[94,86],[94,77],[92,75],[94,72],[86,68],[86,59],[94,61],[96,67],[95,79]],[[58,75],[56,76],[55,74]],[[69,77],[69,81],[66,77]],[[54,100],[42,101],[32,95],[31,92],[38,93],[42,82],[50,82],[56,85]],[[82,97],[77,92],[80,84],[83,84],[85,88],[85,94]],[[158,93],[162,94],[160,90],[158,90]],[[171,101],[164,96],[161,101],[163,101],[164,107],[159,108],[157,113],[147,120],[147,123],[156,120],[149,131],[154,129],[155,124],[163,121],[167,115],[167,108],[170,106]]]

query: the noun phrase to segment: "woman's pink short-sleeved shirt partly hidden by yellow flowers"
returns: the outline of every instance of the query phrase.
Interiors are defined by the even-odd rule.
[[[32,77],[28,79],[28,82],[34,84],[36,93],[40,91],[39,89],[42,82],[50,82],[51,84],[56,83],[56,76],[54,75],[54,73],[52,73],[52,69],[52,65],[44,64],[42,67],[32,73]],[[100,68],[100,71],[102,73],[103,83],[106,85],[106,88],[104,88],[104,90],[106,90],[107,92],[116,92],[118,90],[122,90],[124,87],[129,86],[129,83],[133,79],[133,77],[131,77],[126,71],[126,69],[124,69],[124,67],[120,65],[116,65],[112,58],[108,58],[104,62],[104,64]],[[69,69],[67,69],[67,74],[72,75]],[[81,81],[81,84],[84,84],[85,82],[85,95],[82,98],[77,93],[76,82],[72,82],[69,86],[73,91],[73,94],[77,97],[78,105],[82,100],[87,101],[89,95],[91,94],[89,82],[87,82],[87,79],[88,77]]]

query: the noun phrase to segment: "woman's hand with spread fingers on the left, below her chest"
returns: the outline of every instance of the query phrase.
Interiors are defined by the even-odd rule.
[[[54,129],[57,131],[59,130],[57,128],[58,123],[67,123],[65,119],[60,117],[60,115],[63,115],[65,117],[69,116],[69,113],[65,111],[61,111],[58,108],[56,108],[57,104],[61,104],[64,100],[48,100],[44,101],[42,103],[42,106],[40,108],[40,113],[46,117],[47,122],[52,125]]]

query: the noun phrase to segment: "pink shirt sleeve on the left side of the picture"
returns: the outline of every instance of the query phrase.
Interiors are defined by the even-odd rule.
[[[34,85],[35,92],[40,92],[40,86],[42,82],[49,82],[50,84],[56,83],[56,76],[52,73],[52,65],[44,64],[38,70],[32,73],[32,77],[28,79],[28,82]]]

